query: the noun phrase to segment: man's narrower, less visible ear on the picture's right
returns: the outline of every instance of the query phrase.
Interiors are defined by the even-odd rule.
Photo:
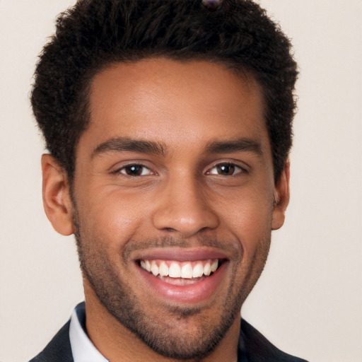
[[[283,172],[274,189],[274,209],[271,230],[277,230],[284,224],[286,206],[289,204],[290,163],[286,162]]]

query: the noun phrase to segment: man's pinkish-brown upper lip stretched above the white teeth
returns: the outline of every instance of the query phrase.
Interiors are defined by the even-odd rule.
[[[161,259],[175,260],[177,262],[192,262],[204,259],[229,259],[229,257],[224,252],[209,247],[158,247],[151,250],[139,250],[133,259]]]

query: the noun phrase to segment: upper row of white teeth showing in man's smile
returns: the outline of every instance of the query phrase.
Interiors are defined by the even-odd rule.
[[[141,260],[141,268],[154,276],[192,279],[209,276],[218,269],[218,259],[200,260],[198,262],[176,262],[171,260]]]

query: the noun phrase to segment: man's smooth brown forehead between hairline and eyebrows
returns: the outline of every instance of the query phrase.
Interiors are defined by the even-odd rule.
[[[212,62],[115,64],[93,78],[90,110],[80,143],[93,146],[118,136],[173,146],[241,136],[269,143],[259,84]]]

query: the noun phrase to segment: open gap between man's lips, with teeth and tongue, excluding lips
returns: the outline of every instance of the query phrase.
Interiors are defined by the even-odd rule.
[[[175,260],[141,259],[139,266],[158,279],[169,284],[194,284],[214,274],[221,259],[206,259],[192,262]]]

